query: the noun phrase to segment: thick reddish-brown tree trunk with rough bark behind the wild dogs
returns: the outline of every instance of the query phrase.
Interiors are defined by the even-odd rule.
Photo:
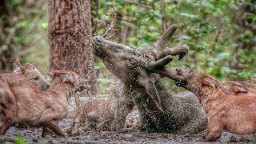
[[[49,11],[50,70],[74,70],[94,94],[90,0],[49,0]]]

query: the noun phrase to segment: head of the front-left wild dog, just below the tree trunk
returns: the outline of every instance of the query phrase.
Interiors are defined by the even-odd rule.
[[[48,73],[54,82],[56,78],[62,78],[62,82],[70,82],[75,88],[79,86],[79,75],[70,70],[53,70]]]

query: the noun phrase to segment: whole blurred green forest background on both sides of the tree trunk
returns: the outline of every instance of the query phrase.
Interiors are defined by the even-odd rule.
[[[48,1],[0,2],[0,69],[31,62],[42,74],[49,68]],[[219,80],[256,80],[256,0],[93,0],[94,34],[113,26],[110,39],[146,50],[163,30],[178,24],[171,46],[186,43],[189,54],[172,67],[204,70]],[[110,72],[96,58],[98,93],[106,94]],[[174,84],[165,79],[166,85]]]

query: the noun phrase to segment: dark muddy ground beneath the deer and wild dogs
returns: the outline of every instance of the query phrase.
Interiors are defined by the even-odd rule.
[[[70,106],[70,110],[74,110]],[[74,111],[71,111],[74,114]],[[74,115],[69,115],[68,118],[60,122],[62,130],[69,131],[73,124]],[[208,143],[204,142],[202,135],[178,135],[178,134],[159,134],[146,133],[138,130],[129,130],[122,132],[110,131],[88,131],[78,136],[66,136],[66,138],[47,136],[42,138],[42,128],[16,128],[10,127],[5,136],[0,137],[0,143],[15,143],[17,135],[22,135],[28,143]],[[250,142],[256,143],[256,138],[253,134],[239,136],[223,132],[222,137],[214,143],[229,143],[229,142]]]

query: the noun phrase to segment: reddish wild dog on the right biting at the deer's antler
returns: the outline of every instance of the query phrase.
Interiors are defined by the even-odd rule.
[[[178,70],[178,74],[186,78],[178,86],[196,94],[208,114],[206,140],[218,139],[223,129],[235,134],[256,132],[256,97],[226,94],[214,77],[201,71]]]

